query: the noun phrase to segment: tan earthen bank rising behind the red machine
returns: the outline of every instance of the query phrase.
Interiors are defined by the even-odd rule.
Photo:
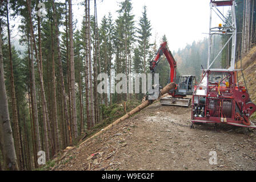
[[[237,69],[241,68],[241,60],[237,62]],[[249,90],[251,101],[256,104],[256,46],[251,48],[251,51],[243,56],[242,59],[243,75],[247,89]],[[243,82],[242,73],[238,73],[239,82]],[[256,113],[251,117],[254,121],[256,120]]]

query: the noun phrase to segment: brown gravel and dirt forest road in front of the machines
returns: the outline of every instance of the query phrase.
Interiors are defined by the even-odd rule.
[[[256,130],[195,125],[191,107],[146,107],[52,162],[51,170],[256,170]],[[210,151],[217,152],[211,165]],[[92,155],[93,154],[93,155]]]

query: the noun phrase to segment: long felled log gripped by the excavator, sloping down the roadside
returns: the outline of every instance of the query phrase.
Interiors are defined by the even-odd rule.
[[[176,84],[174,82],[171,82],[170,84],[166,85],[161,92],[159,93],[159,97],[163,96],[164,94],[168,93],[169,90],[174,89],[176,86]],[[123,115],[123,117],[117,119],[116,121],[114,121],[113,123],[111,123],[109,126],[105,127],[104,129],[102,129],[101,131],[99,131],[98,133],[94,134],[93,136],[91,136],[90,138],[86,139],[84,142],[82,142],[81,144],[79,144],[80,146],[87,142],[88,140],[97,137],[98,135],[102,134],[104,131],[109,130],[111,127],[113,127],[114,125],[117,125],[117,123],[121,122],[121,121],[125,121],[125,119],[128,119],[131,115],[138,113],[139,111],[141,111],[142,109],[144,109],[146,106],[149,106],[150,104],[152,104],[155,100],[146,100],[145,102],[143,102],[141,105],[135,107],[135,109],[131,110],[129,113]]]

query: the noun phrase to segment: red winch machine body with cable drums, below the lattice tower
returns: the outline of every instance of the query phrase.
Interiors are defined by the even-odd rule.
[[[256,111],[244,86],[238,86],[237,71],[203,72],[203,78],[195,86],[192,99],[191,122],[227,123],[254,127],[249,121]]]

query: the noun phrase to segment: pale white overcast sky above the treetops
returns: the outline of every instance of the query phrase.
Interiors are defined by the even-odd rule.
[[[104,15],[110,12],[113,19],[116,19],[119,9],[119,2],[123,0],[97,0],[98,22]],[[75,5],[81,1],[73,0],[74,18],[81,22],[84,7]],[[91,13],[94,13],[94,1],[91,2]],[[139,17],[142,16],[143,6],[147,6],[147,16],[151,22],[152,38],[157,35],[159,40],[164,34],[169,41],[170,50],[178,50],[186,44],[191,44],[193,41],[202,40],[207,35],[203,33],[209,32],[209,13],[210,0],[131,0],[133,3],[133,14],[135,15],[136,25]],[[215,22],[216,26],[218,23]],[[158,42],[159,44],[159,42]]]

